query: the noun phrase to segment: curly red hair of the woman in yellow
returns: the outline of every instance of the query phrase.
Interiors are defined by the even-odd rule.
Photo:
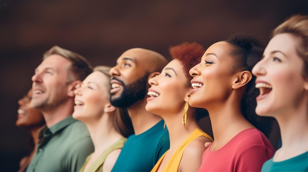
[[[189,75],[189,70],[198,63],[200,63],[201,57],[204,54],[205,49],[202,45],[196,42],[183,42],[177,46],[170,46],[169,52],[173,59],[180,60],[188,81],[187,86],[190,87],[190,79],[192,79],[192,77]]]

